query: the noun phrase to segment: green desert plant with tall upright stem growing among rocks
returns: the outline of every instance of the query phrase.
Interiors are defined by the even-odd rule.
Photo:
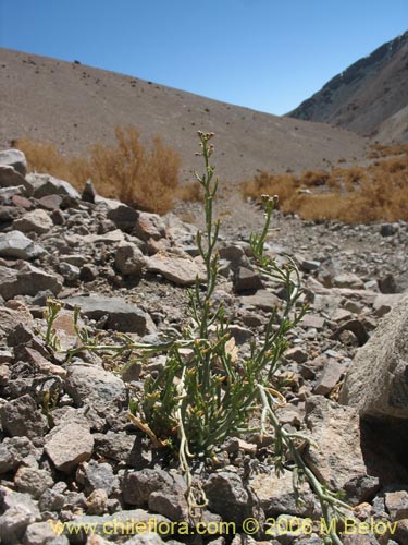
[[[194,479],[195,460],[211,463],[217,447],[232,435],[248,433],[249,421],[258,424],[261,435],[272,429],[274,470],[277,474],[292,469],[294,489],[301,502],[300,484],[308,482],[318,496],[323,518],[329,529],[327,543],[339,545],[333,521],[348,508],[331,493],[304,461],[300,445],[310,439],[284,429],[276,416],[276,409],[285,403],[277,372],[282,355],[288,347],[288,332],[304,317],[307,308],[299,303],[301,284],[296,265],[281,267],[264,253],[275,196],[262,196],[265,223],[259,235],[250,238],[254,264],[260,274],[282,282],[285,301],[282,308],[271,313],[263,338],[251,342],[250,356],[242,359],[228,331],[228,319],[222,303],[215,304],[213,294],[218,282],[219,256],[217,251],[220,221],[214,219],[213,203],[218,179],[210,162],[212,134],[199,133],[205,172],[197,180],[205,194],[206,229],[197,233],[197,245],[206,269],[206,280],[197,279],[188,292],[190,325],[174,339],[160,346],[135,343],[123,336],[118,346],[98,346],[86,332],[76,330],[83,346],[70,351],[98,350],[122,354],[136,350],[143,354],[163,351],[165,365],[157,376],[148,375],[144,392],[129,403],[129,417],[146,433],[154,447],[169,447],[178,457],[187,483],[187,501],[191,519],[200,516],[207,500],[200,481]],[[77,324],[78,311],[75,313]],[[52,330],[52,313],[48,314]],[[183,350],[182,350],[183,349]]]

